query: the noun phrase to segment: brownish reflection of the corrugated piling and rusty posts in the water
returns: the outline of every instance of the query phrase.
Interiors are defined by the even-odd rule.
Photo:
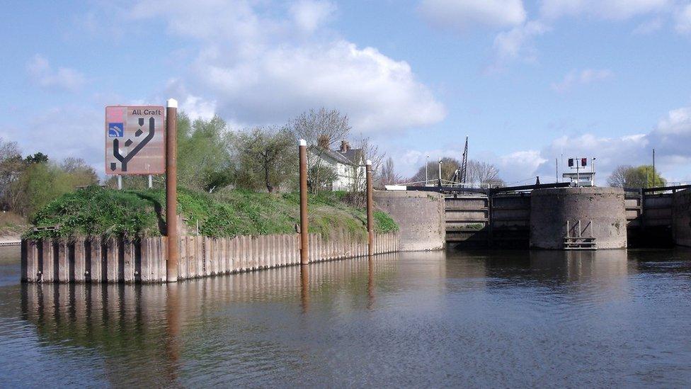
[[[353,300],[353,308],[372,308],[375,279],[394,274],[396,261],[396,254],[387,254],[167,285],[23,284],[21,318],[35,325],[44,344],[102,353],[103,378],[111,384],[169,386],[179,383],[181,374],[189,378],[181,371],[181,359],[189,357],[185,347],[190,331],[205,332],[199,326],[206,325],[210,315],[294,300],[299,300],[305,315],[314,296],[321,310],[324,305],[341,309],[344,299]],[[247,330],[258,328],[249,325]],[[204,342],[222,339],[210,337]],[[263,348],[243,352],[253,354]]]

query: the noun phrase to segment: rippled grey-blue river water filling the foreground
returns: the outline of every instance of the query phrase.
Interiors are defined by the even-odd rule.
[[[402,253],[169,286],[25,285],[0,387],[691,384],[691,251]]]

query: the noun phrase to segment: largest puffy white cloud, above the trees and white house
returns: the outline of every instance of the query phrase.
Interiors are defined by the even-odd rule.
[[[348,113],[363,132],[428,125],[445,116],[409,64],[344,40],[241,58],[208,55],[193,75],[222,115],[244,122],[277,122],[318,106]]]

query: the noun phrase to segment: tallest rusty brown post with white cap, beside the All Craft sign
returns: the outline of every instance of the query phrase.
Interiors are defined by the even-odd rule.
[[[178,281],[178,101],[174,98],[166,102],[166,131],[166,278],[175,282]]]

